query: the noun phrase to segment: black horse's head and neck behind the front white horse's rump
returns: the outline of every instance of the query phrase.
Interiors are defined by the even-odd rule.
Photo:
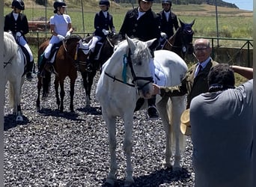
[[[180,19],[179,19],[180,20]],[[193,52],[193,34],[192,26],[195,23],[195,19],[191,23],[185,23],[180,20],[180,28],[165,41],[162,49],[166,49],[180,55],[181,58],[185,58],[186,54],[192,54]]]

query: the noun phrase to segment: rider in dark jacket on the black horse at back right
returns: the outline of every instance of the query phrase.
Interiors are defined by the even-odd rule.
[[[167,38],[174,35],[175,31],[179,28],[177,16],[171,11],[171,0],[162,0],[162,11],[159,12],[161,18],[161,31],[162,34],[166,34]]]

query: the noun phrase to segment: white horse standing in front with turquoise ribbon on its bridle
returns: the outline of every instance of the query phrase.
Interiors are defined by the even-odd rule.
[[[126,85],[118,82],[115,79],[123,80],[122,74],[124,73],[124,55],[129,55],[132,61],[132,67],[135,76],[150,77],[149,59],[150,52],[145,46],[149,46],[152,41],[141,42],[138,40],[127,40],[120,43],[115,49],[114,54],[106,64],[103,66],[103,72],[97,83],[96,98],[100,102],[103,113],[103,120],[106,121],[109,132],[109,150],[110,150],[110,172],[107,177],[107,183],[115,183],[117,180],[115,174],[118,169],[116,162],[115,149],[116,149],[116,129],[115,118],[121,117],[124,120],[124,152],[127,158],[127,170],[125,185],[134,183],[132,179],[132,120],[133,111],[135,109],[135,102],[139,96],[148,97],[152,92],[152,83],[139,79],[135,82],[136,87]],[[167,85],[179,85],[183,76],[185,76],[187,67],[186,63],[174,52],[160,50],[155,52],[155,61],[161,64],[162,70],[167,76]],[[107,76],[108,73],[111,77]],[[131,68],[127,67],[127,83],[132,84]],[[136,88],[141,88],[139,91]],[[180,152],[183,150],[181,145],[184,144],[184,137],[179,131],[180,115],[185,109],[185,96],[176,96],[169,99],[169,97],[157,96],[156,106],[159,110],[160,117],[166,132],[166,153],[165,153],[165,166],[171,166],[171,143],[174,144],[175,157],[180,158]],[[172,106],[173,105],[173,106]],[[144,105],[144,107],[146,107]],[[174,140],[174,141],[173,141]],[[174,167],[180,168],[180,159],[174,159]]]

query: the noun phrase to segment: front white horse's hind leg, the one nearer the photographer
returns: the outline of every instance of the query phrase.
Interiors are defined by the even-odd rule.
[[[180,159],[181,154],[185,149],[186,137],[180,132],[180,116],[182,112],[185,110],[185,96],[174,96],[171,97],[172,102],[172,119],[171,126],[172,131],[171,135],[173,137],[173,144],[175,145],[175,153],[174,153],[174,171],[180,171]]]

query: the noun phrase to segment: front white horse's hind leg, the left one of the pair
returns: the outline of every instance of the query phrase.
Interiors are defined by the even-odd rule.
[[[162,119],[162,125],[165,130],[165,159],[162,162],[162,168],[171,168],[171,119],[168,117],[168,101],[169,97],[165,96],[156,103],[156,107],[159,111],[159,116]]]

